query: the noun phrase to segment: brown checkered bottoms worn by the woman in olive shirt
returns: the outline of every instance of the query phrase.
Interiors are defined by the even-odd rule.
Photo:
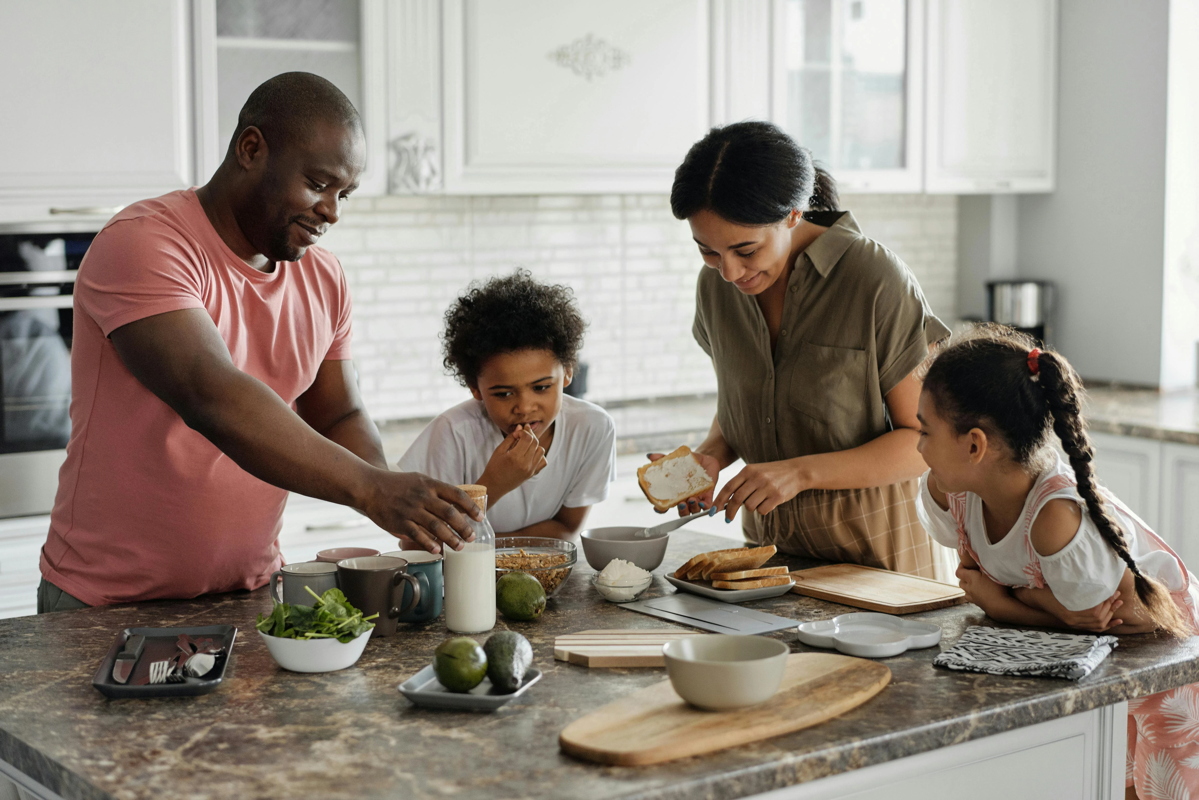
[[[783,553],[941,578],[941,547],[916,518],[920,481],[872,489],[812,489],[766,516],[745,515],[746,539]],[[745,513],[745,512],[742,512]]]

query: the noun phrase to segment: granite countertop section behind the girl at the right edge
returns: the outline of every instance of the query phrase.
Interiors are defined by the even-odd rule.
[[[1092,431],[1199,445],[1199,390],[1087,386],[1086,420]]]

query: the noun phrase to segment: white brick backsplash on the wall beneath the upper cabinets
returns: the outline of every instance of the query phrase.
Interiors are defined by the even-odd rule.
[[[854,194],[842,205],[952,320],[956,198]],[[323,245],[345,270],[355,366],[378,420],[433,416],[469,397],[441,366],[442,315],[471,281],[518,266],[574,289],[590,324],[589,399],[716,389],[691,337],[703,261],[665,196],[355,198]]]

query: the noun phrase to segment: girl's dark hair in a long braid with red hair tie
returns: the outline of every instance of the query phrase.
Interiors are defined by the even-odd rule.
[[[938,415],[959,434],[980,428],[1001,439],[1012,458],[1030,467],[1058,434],[1074,468],[1078,494],[1099,535],[1135,578],[1137,596],[1157,626],[1173,636],[1192,634],[1191,625],[1165,588],[1141,573],[1123,530],[1108,511],[1095,482],[1095,450],[1083,420],[1083,381],[1060,354],[1042,349],[1030,367],[1034,339],[1002,325],[978,325],[939,353],[924,375]]]

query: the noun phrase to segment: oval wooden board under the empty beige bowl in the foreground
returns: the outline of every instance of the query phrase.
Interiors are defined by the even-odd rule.
[[[558,744],[562,752],[589,762],[658,764],[819,724],[861,705],[890,681],[891,670],[876,661],[794,654],[787,658],[778,693],[759,705],[701,711],[664,680],[576,720],[559,734]]]

